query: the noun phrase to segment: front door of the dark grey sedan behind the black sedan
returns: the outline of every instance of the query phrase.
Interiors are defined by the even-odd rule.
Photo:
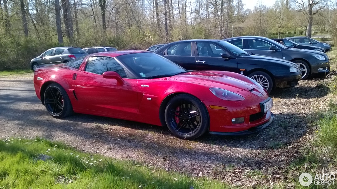
[[[270,42],[267,42],[262,39],[253,39],[253,38],[246,38],[246,49],[243,49],[247,52],[251,52],[253,54],[261,54],[265,56],[272,56],[279,59],[283,59],[283,54],[281,49],[278,50],[270,50],[269,47],[273,44]]]

